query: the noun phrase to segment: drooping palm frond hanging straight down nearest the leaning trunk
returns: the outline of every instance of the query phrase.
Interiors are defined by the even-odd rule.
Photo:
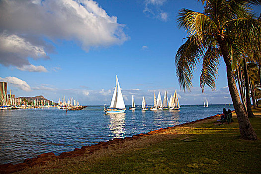
[[[210,45],[203,57],[203,65],[200,76],[200,87],[204,91],[204,86],[209,86],[215,90],[215,81],[218,75],[218,66],[220,60],[220,50]]]

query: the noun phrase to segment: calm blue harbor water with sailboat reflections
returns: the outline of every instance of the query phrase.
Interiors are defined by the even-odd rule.
[[[113,138],[124,138],[222,113],[233,105],[181,105],[176,111],[135,111],[106,115],[103,106],[81,111],[37,108],[0,111],[0,164],[73,151]]]

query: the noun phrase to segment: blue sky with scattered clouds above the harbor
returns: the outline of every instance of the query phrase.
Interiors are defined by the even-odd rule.
[[[232,103],[221,59],[216,90],[180,90],[174,56],[186,33],[177,28],[181,8],[202,11],[197,0],[2,0],[0,81],[16,96],[109,104],[115,75],[125,104],[152,104],[153,90],[177,89],[181,104]],[[258,8],[255,8],[258,9]],[[257,10],[260,12],[260,9]]]

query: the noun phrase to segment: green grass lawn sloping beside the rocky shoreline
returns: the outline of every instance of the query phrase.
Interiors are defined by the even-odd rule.
[[[232,124],[217,124],[215,118],[181,128],[177,134],[144,137],[131,148],[60,160],[21,173],[260,174],[261,140],[240,139],[235,115],[233,119]],[[261,137],[261,117],[250,121]]]

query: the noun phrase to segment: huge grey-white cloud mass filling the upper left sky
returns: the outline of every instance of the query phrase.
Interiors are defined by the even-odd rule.
[[[48,41],[72,40],[84,50],[122,44],[123,24],[94,0],[1,0],[0,64],[21,68],[49,58]]]

